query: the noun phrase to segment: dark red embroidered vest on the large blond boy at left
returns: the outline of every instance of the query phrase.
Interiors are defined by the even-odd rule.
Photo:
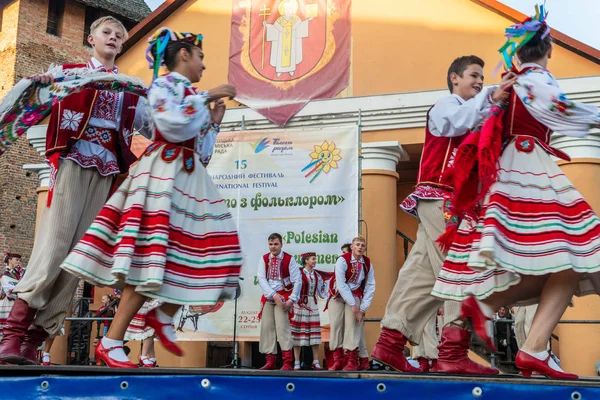
[[[65,64],[63,69],[85,68],[87,64]],[[88,125],[92,110],[98,98],[98,90],[85,89],[79,93],[66,97],[63,101],[52,107],[48,131],[46,133],[46,157],[51,158],[56,153],[66,153],[75,142],[81,139]],[[135,120],[135,108],[139,97],[125,93],[123,95],[123,105],[121,110],[119,135],[115,155],[119,163],[121,173],[129,171],[131,164],[137,157],[129,149],[130,143],[127,142],[125,131],[133,131],[133,122]],[[65,117],[64,111],[71,111],[71,115],[77,115],[77,120],[81,122],[76,130],[61,128],[61,123]]]

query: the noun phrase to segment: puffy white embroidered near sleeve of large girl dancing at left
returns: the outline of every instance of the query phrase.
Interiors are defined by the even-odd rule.
[[[210,123],[205,94],[185,96],[185,86],[170,75],[157,78],[148,101],[156,129],[170,142],[194,138]]]

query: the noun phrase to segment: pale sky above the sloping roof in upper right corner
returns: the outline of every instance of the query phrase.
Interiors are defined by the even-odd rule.
[[[543,0],[499,0],[526,15],[535,14],[535,5]],[[546,0],[548,25],[600,50],[600,0]]]

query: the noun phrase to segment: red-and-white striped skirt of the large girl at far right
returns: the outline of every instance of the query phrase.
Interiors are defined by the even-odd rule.
[[[577,295],[600,289],[600,219],[542,146],[511,141],[479,218],[465,218],[432,295],[484,299],[521,275],[573,269],[584,273]]]

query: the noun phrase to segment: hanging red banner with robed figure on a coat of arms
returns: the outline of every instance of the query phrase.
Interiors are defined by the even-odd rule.
[[[229,83],[236,100],[284,126],[350,80],[351,0],[233,0]]]

